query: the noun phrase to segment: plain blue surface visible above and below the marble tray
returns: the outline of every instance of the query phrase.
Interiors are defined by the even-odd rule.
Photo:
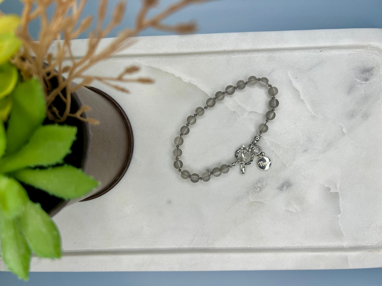
[[[96,14],[89,0],[85,14]],[[174,1],[162,0],[157,12]],[[117,0],[109,1],[112,8]],[[130,0],[121,27],[131,26],[141,2]],[[5,13],[20,13],[21,3],[5,0]],[[151,14],[152,14],[151,13]],[[150,15],[150,14],[149,14]],[[110,14],[109,14],[110,16]],[[221,0],[190,6],[167,24],[195,20],[197,33],[282,31],[337,28],[382,28],[382,0]],[[120,28],[112,31],[115,36]],[[36,37],[38,22],[31,25]],[[382,31],[381,31],[382,33]],[[171,33],[148,29],[141,35]],[[81,35],[86,38],[87,35]],[[28,283],[0,272],[0,285],[382,285],[382,268],[354,270],[222,271],[222,272],[34,272]]]

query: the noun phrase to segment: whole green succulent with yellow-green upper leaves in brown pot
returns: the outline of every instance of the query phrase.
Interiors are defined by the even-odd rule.
[[[5,265],[26,280],[31,252],[57,258],[61,243],[54,222],[21,183],[72,199],[98,182],[63,163],[76,127],[42,125],[46,103],[41,83],[36,78],[22,81],[10,63],[19,47],[12,32],[17,24],[16,17],[0,17],[0,242]]]

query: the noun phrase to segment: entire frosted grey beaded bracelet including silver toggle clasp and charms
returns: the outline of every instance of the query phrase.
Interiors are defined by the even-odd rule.
[[[196,123],[196,116],[202,116],[204,114],[204,110],[207,108],[212,108],[215,106],[216,100],[223,100],[225,94],[233,95],[235,93],[236,89],[244,89],[246,85],[255,85],[259,82],[259,85],[261,87],[268,86],[268,94],[272,96],[272,99],[269,101],[269,106],[272,108],[265,114],[265,123],[262,123],[259,125],[259,133],[256,134],[256,136],[253,138],[252,143],[247,147],[246,145],[242,145],[239,149],[235,152],[235,162],[231,164],[223,164],[219,167],[215,167],[212,169],[212,172],[204,172],[201,177],[199,177],[199,174],[194,173],[190,174],[188,170],[182,170],[181,167],[183,167],[183,162],[179,160],[179,157],[182,154],[182,150],[179,148],[180,145],[183,144],[183,135],[187,135],[189,133],[189,125],[194,125]],[[199,180],[203,180],[204,182],[208,182],[211,178],[211,175],[214,175],[215,177],[219,177],[222,173],[226,174],[237,163],[240,164],[240,173],[245,174],[245,166],[251,164],[254,160],[254,155],[259,156],[259,159],[257,160],[257,166],[261,170],[268,170],[271,164],[271,161],[268,157],[265,157],[265,153],[262,152],[261,147],[257,145],[257,142],[262,137],[261,134],[268,131],[268,121],[275,118],[275,108],[278,106],[278,100],[275,98],[275,95],[277,95],[278,89],[276,87],[272,87],[272,85],[268,84],[268,79],[266,77],[257,78],[255,76],[250,76],[248,78],[248,81],[244,82],[244,80],[239,80],[236,83],[236,86],[228,85],[225,88],[225,92],[217,92],[215,93],[214,98],[209,98],[206,101],[206,106],[197,107],[195,109],[195,114],[190,115],[187,117],[187,123],[185,126],[182,126],[180,129],[180,135],[175,138],[174,143],[176,145],[176,148],[173,151],[173,155],[175,156],[175,162],[174,167],[175,169],[178,169],[179,172],[181,172],[181,177],[183,179],[191,179],[191,182],[196,183]]]

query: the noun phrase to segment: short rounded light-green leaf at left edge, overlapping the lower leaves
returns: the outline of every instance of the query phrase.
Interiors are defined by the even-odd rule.
[[[29,201],[26,190],[14,178],[0,174],[0,212],[8,217],[19,215]]]

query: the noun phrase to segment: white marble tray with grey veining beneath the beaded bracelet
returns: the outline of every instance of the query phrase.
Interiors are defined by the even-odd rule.
[[[77,55],[85,46],[74,43]],[[139,76],[156,80],[128,85],[127,95],[94,84],[128,114],[133,161],[112,191],[55,216],[63,258],[34,258],[31,270],[382,267],[381,49],[381,29],[138,38],[91,71],[116,75],[138,64]],[[279,90],[259,144],[272,167],[181,179],[172,150],[186,117],[251,75]],[[197,117],[181,146],[183,169],[232,162],[268,100],[265,88],[248,86]]]

